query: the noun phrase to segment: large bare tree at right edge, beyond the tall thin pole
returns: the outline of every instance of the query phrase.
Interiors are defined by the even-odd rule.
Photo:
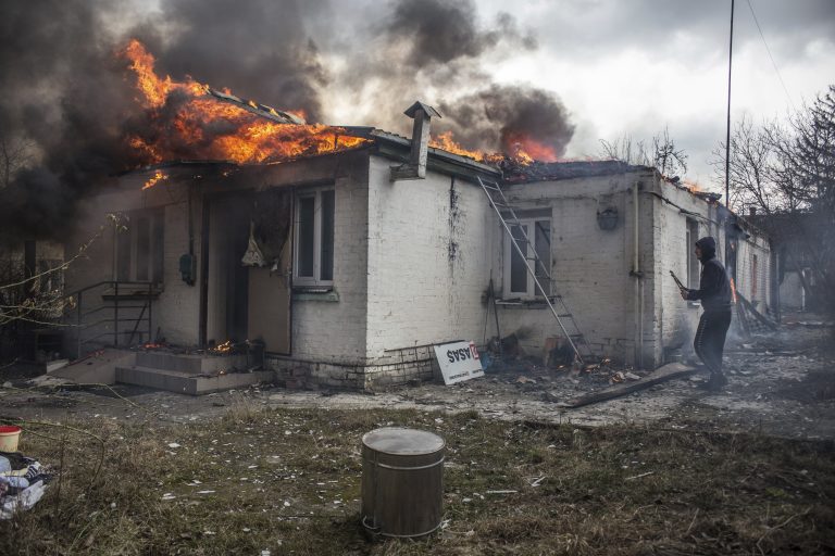
[[[725,148],[711,161],[724,181]],[[788,124],[737,124],[731,139],[728,187],[737,210],[772,216],[761,224],[784,244],[815,304],[835,314],[835,86]],[[785,245],[790,245],[785,248]]]

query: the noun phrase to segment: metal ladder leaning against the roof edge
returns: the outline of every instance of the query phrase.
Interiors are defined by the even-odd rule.
[[[504,197],[504,192],[501,190],[501,187],[499,187],[496,181],[485,182],[482,180],[481,176],[478,176],[478,185],[482,186],[482,189],[487,195],[487,199],[490,201],[490,206],[499,217],[499,222],[501,222],[501,226],[504,228],[504,231],[510,238],[510,242],[513,244],[516,253],[519,253],[519,256],[521,256],[522,261],[525,263],[525,268],[527,269],[527,274],[534,279],[536,290],[541,293],[543,299],[548,304],[548,308],[551,309],[553,318],[557,319],[557,324],[560,326],[560,330],[562,330],[562,333],[565,336],[569,344],[571,344],[571,349],[574,350],[574,354],[576,355],[577,361],[579,361],[581,364],[584,364],[586,359],[595,358],[595,352],[591,350],[591,345],[589,345],[585,334],[579,330],[579,326],[577,325],[574,315],[565,304],[565,300],[562,298],[562,295],[559,294],[549,295],[545,291],[545,288],[543,288],[543,285],[536,275],[536,269],[541,269],[543,274],[548,279],[549,286],[551,283],[550,269],[546,268],[539,256],[536,254],[534,244],[528,239],[527,232],[525,232],[525,228],[522,226],[522,223],[519,222],[515,211],[513,211],[513,207],[510,206],[510,203]],[[509,214],[510,217],[506,218],[502,215],[502,211]],[[519,230],[519,232],[522,235],[521,239],[516,239],[516,237],[513,235],[513,228]],[[524,245],[524,250],[522,249],[522,245]],[[533,256],[528,256],[527,252],[531,252]],[[531,268],[529,261],[534,262],[534,268]]]

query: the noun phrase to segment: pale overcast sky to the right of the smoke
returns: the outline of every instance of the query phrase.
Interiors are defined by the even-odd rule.
[[[522,31],[536,38],[534,50],[497,48],[474,63],[497,83],[532,84],[559,96],[575,124],[566,156],[599,155],[600,139],[649,138],[669,126],[689,154],[688,177],[711,186],[708,161],[725,134],[730,0],[475,4],[484,27],[499,11],[509,11]],[[378,2],[364,5],[351,12],[373,12]],[[737,0],[734,22],[734,121],[743,114],[755,122],[783,118],[835,83],[834,0]],[[350,39],[346,45],[351,48],[345,55],[363,51]],[[424,85],[415,96],[427,102],[452,93],[443,83]],[[361,102],[329,104],[331,115],[351,122]]]

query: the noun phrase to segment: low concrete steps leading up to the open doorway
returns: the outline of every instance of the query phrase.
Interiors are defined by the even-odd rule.
[[[123,384],[202,395],[234,388],[245,388],[258,382],[271,382],[275,379],[275,374],[272,370],[228,372],[230,369],[245,369],[246,367],[246,355],[137,352],[134,365],[116,367],[115,380]]]

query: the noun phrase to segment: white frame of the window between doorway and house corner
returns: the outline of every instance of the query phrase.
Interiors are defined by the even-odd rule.
[[[334,186],[323,186],[315,188],[306,188],[296,192],[292,206],[292,285],[294,287],[301,288],[328,288],[334,286],[333,274],[335,270],[335,261],[332,261],[332,278],[329,280],[322,279],[322,233],[323,233],[323,194],[324,192],[333,191],[334,193],[334,222],[332,228],[334,228],[334,238],[331,245],[331,255],[335,260],[335,244],[336,244],[336,188]],[[301,231],[301,200],[313,199],[313,276],[299,276],[299,257],[301,255],[301,249],[299,245],[300,231]]]

